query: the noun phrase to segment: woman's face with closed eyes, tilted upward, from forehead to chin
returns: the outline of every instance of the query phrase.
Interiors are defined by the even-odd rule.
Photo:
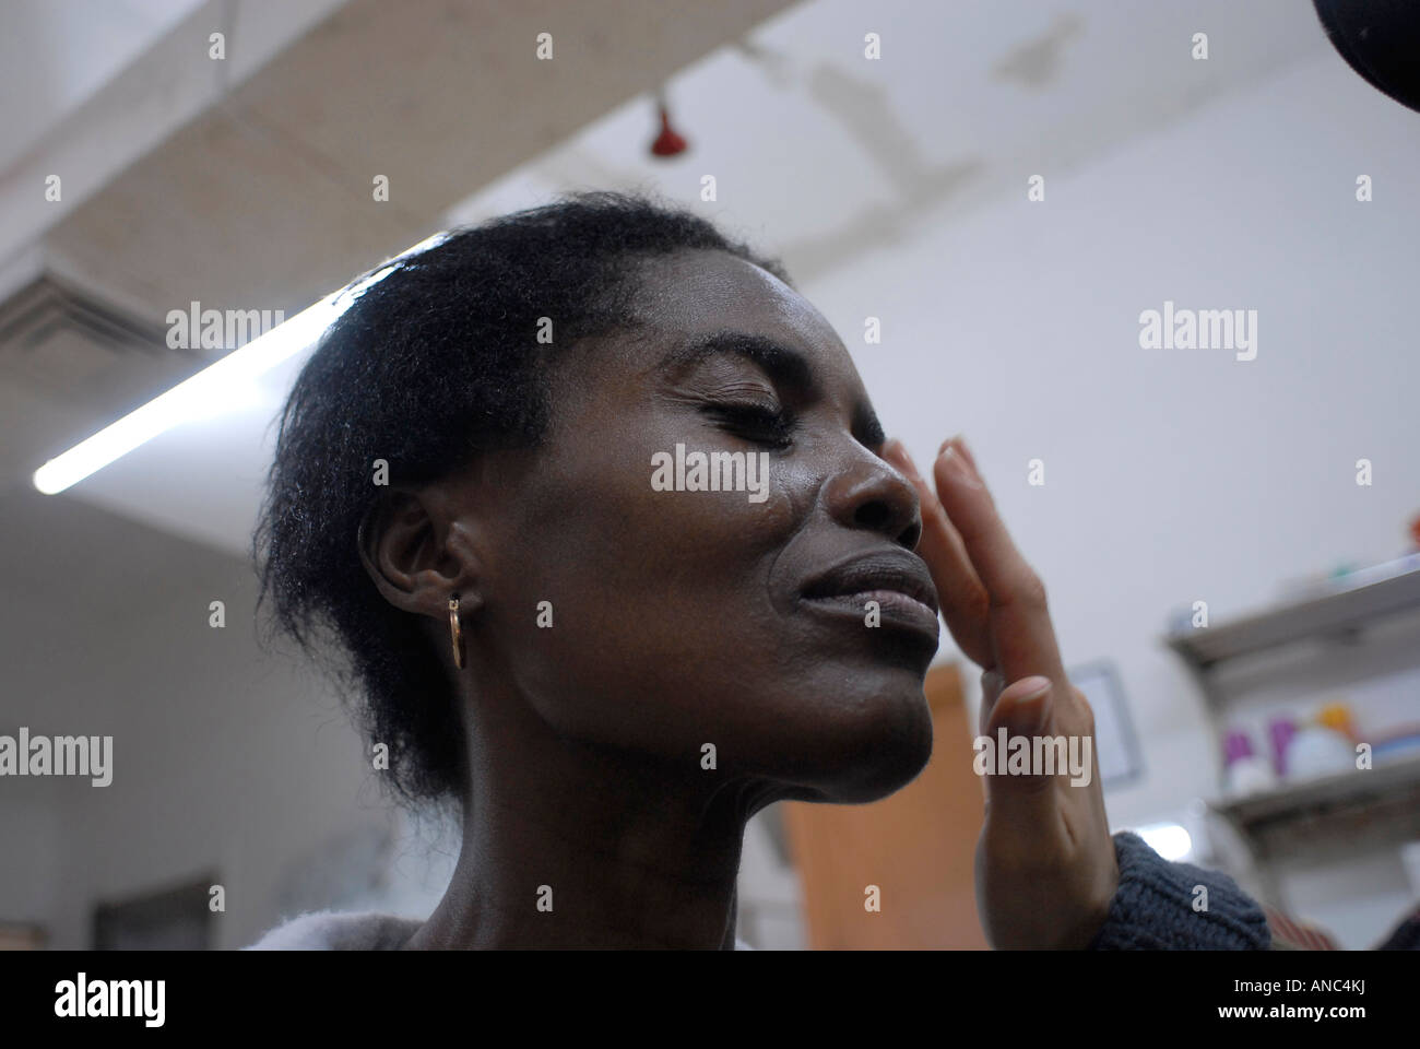
[[[937,597],[848,351],[730,254],[642,273],[646,326],[562,350],[545,441],[493,456],[477,644],[564,736],[768,796],[890,793],[932,753]],[[721,490],[689,490],[694,453]]]

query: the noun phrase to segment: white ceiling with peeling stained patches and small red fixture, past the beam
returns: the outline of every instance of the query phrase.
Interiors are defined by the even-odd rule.
[[[863,58],[869,31],[879,61]],[[1189,58],[1196,31],[1210,36],[1207,63]],[[721,47],[669,82],[689,154],[649,156],[642,95],[446,220],[565,188],[657,188],[781,254],[812,297],[816,279],[906,236],[924,209],[966,215],[1024,192],[1031,172],[1085,163],[1329,45],[1302,3],[815,0],[761,26],[750,50]],[[714,205],[699,203],[703,173],[717,178]],[[266,377],[260,405],[170,431],[60,497],[244,553],[270,421],[302,360]]]

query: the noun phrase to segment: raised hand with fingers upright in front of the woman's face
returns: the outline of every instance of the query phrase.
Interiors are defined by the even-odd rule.
[[[883,456],[917,489],[917,553],[963,652],[983,668],[981,735],[1095,735],[1095,715],[1061,662],[1045,588],[1001,523],[960,438],[943,443],[927,486],[900,442]],[[1034,748],[1032,748],[1034,751]],[[977,910],[997,948],[1083,948],[1109,913],[1119,867],[1105,816],[1099,760],[1088,783],[1055,775],[987,775],[977,843]]]

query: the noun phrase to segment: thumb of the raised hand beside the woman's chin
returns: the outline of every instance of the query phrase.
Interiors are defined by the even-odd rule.
[[[988,814],[1028,833],[1055,807],[1052,778],[1037,768],[1037,739],[1048,735],[1054,708],[1049,678],[1021,678],[1001,691],[981,718],[976,769],[985,778]],[[1004,733],[1003,733],[1004,729]]]

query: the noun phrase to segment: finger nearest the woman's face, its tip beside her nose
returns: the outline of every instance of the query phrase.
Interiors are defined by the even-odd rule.
[[[902,470],[917,489],[917,500],[922,505],[922,540],[917,543],[917,553],[932,571],[947,630],[968,660],[980,667],[990,667],[994,655],[988,633],[985,587],[971,567],[961,537],[941,509],[936,492],[917,473],[902,442],[889,441],[883,448],[883,458]]]

